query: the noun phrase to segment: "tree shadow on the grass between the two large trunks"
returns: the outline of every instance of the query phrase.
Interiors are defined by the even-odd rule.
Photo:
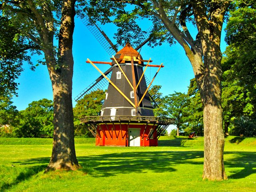
[[[177,164],[203,164],[203,151],[157,151],[157,152],[124,152],[78,157],[85,167],[93,167],[92,176],[108,177],[117,174],[173,172]]]

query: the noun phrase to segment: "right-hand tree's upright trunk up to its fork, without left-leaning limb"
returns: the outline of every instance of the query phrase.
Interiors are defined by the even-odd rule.
[[[208,180],[226,179],[224,170],[224,133],[221,107],[221,59],[220,36],[227,2],[213,4],[210,20],[202,1],[192,5],[198,34],[202,44],[204,65],[196,80],[200,89],[204,116],[204,173]]]

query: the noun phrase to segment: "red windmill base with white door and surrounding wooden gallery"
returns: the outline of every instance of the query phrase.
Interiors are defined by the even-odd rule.
[[[96,146],[157,146],[172,118],[145,116],[90,116],[80,119],[95,134]]]

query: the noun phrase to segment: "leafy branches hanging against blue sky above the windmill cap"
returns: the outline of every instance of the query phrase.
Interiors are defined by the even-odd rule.
[[[161,45],[164,42],[168,42],[170,45],[175,43],[173,36],[170,35],[164,24],[151,14],[152,10],[154,10],[154,5],[151,1],[126,3],[122,1],[90,0],[82,1],[78,4],[84,6],[84,10],[88,12],[92,23],[96,21],[100,21],[102,24],[112,22],[118,27],[116,34],[114,34],[118,45],[124,46],[127,42],[132,45],[138,45],[144,41],[143,37],[146,31],[140,28],[138,19],[151,20],[153,24],[150,31],[150,46]],[[142,5],[142,7],[139,5]],[[173,6],[177,7],[177,5]],[[78,12],[78,15],[82,15],[82,13]]]

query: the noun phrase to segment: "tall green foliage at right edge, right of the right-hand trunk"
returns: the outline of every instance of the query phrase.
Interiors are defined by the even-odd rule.
[[[241,4],[230,12],[226,26],[226,60],[224,66],[229,79],[244,88],[245,112],[254,112],[256,101],[256,7],[255,3]],[[241,88],[240,88],[241,90]],[[250,104],[249,104],[250,103]],[[246,109],[247,108],[247,109]]]

